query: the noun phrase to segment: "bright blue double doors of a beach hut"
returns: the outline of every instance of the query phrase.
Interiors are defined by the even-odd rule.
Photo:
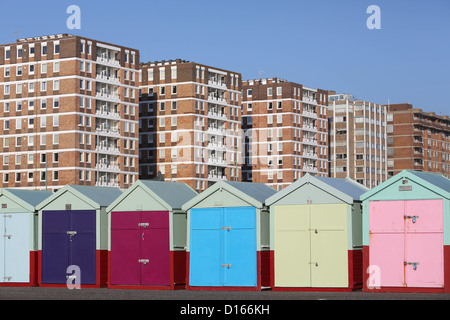
[[[256,286],[256,209],[202,208],[190,213],[191,286]]]

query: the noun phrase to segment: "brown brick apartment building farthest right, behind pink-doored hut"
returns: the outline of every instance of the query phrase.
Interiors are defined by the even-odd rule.
[[[387,108],[389,176],[410,169],[450,177],[450,118],[407,103]]]

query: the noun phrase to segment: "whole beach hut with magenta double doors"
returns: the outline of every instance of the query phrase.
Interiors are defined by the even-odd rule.
[[[109,288],[184,289],[181,207],[196,195],[185,183],[138,180],[108,206]]]

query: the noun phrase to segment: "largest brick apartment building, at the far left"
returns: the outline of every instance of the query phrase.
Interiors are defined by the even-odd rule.
[[[0,183],[138,178],[139,52],[69,34],[0,45]]]

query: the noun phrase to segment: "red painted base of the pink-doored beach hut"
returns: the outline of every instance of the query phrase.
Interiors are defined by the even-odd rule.
[[[369,274],[366,272],[370,265],[369,246],[363,246],[363,292],[398,292],[398,293],[450,293],[450,246],[444,246],[444,287],[380,287],[369,288]]]

